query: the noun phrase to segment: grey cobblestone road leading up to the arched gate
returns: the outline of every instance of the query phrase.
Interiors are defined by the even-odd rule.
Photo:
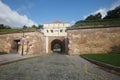
[[[0,80],[120,80],[79,56],[42,55],[0,66]]]

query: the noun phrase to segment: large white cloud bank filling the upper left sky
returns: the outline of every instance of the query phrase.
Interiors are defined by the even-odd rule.
[[[23,25],[37,25],[26,15],[20,15],[17,11],[12,10],[8,5],[0,0],[0,24],[9,25],[11,27],[22,27]]]

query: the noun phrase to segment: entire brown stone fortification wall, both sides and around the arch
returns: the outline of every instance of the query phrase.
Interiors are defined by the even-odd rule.
[[[51,43],[54,40],[61,41],[63,51],[66,53],[68,51],[69,55],[120,52],[120,27],[72,28],[67,30],[67,34],[70,33],[71,38],[67,36],[69,40],[66,37],[48,37],[48,53],[53,53]],[[21,54],[22,35],[22,33],[0,34],[0,52]],[[35,53],[46,53],[46,38],[38,31],[26,32],[24,54]]]

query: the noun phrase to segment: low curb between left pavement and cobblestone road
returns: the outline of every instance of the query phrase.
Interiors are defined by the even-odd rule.
[[[0,62],[0,66],[10,64],[10,63],[14,63],[14,62],[18,62],[18,61],[27,60],[27,59],[32,59],[32,58],[39,57],[39,56],[41,56],[41,55],[31,55],[31,56],[28,56],[28,57],[23,56],[22,58],[8,60],[8,61],[5,61],[5,62]]]

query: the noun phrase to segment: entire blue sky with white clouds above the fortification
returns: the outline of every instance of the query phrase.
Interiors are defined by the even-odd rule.
[[[22,27],[60,20],[73,24],[120,5],[120,0],[0,0],[0,24]]]

